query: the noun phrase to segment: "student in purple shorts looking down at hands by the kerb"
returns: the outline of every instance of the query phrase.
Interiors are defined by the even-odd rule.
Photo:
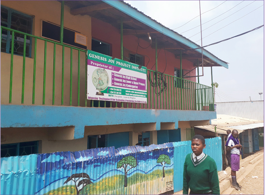
[[[231,187],[236,190],[241,190],[241,186],[236,181],[236,171],[239,170],[239,162],[242,145],[239,143],[238,139],[238,131],[234,129],[232,131],[232,135],[228,138],[226,142],[226,151],[231,151],[231,177],[232,184]]]

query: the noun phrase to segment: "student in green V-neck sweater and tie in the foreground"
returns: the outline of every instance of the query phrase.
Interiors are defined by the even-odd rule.
[[[205,139],[195,135],[191,140],[193,153],[186,156],[183,172],[183,194],[220,194],[215,161],[203,153]]]

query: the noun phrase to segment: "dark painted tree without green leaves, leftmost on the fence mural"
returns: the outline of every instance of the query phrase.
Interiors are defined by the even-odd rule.
[[[70,177],[67,178],[67,180],[64,182],[66,184],[69,181],[74,181],[76,194],[79,194],[80,191],[87,185],[87,184],[93,184],[93,182],[90,180],[89,175],[87,173],[75,173],[72,174]],[[77,184],[78,182],[78,184]]]

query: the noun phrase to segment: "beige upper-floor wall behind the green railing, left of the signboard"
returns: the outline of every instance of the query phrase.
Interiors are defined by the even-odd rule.
[[[1,1],[1,5],[22,13],[34,16],[33,35],[41,37],[42,20],[60,25],[61,3],[59,1]],[[87,49],[91,49],[91,17],[88,15],[73,16],[70,8],[64,6],[64,27],[80,32],[87,36]],[[32,104],[33,89],[33,57],[34,39],[32,39],[32,58],[26,57],[25,65],[25,95],[24,105]],[[54,44],[47,43],[47,65],[46,65],[46,89],[45,105],[52,105],[53,85],[53,54]],[[64,51],[64,105],[70,105],[70,49],[65,47]],[[85,52],[80,56],[80,106],[85,105]],[[1,104],[9,103],[9,80],[10,80],[10,59],[11,54],[1,52]],[[13,85],[12,104],[21,104],[22,91],[22,67],[23,57],[14,55],[13,64]],[[35,105],[42,105],[43,96],[43,74],[44,74],[44,41],[37,40],[36,57],[36,84],[35,84]],[[73,50],[73,72],[72,72],[72,105],[77,106],[78,92],[78,52]],[[55,66],[55,103],[61,105],[62,91],[62,47],[56,47]]]

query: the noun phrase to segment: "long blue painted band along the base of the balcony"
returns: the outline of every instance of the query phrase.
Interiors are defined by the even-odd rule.
[[[84,137],[85,126],[210,120],[216,112],[74,106],[1,105],[1,128],[74,126],[74,139]]]

